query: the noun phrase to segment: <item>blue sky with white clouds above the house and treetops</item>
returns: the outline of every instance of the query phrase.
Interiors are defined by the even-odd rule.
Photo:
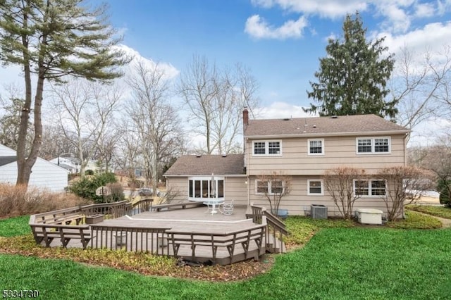
[[[340,37],[346,13],[359,11],[369,38],[387,37],[395,54],[404,45],[422,52],[451,44],[450,0],[108,3],[112,25],[124,34],[123,44],[144,58],[173,65],[180,72],[194,54],[218,66],[243,63],[257,78],[265,107],[280,102],[279,106],[309,105],[309,80],[315,80],[328,37]]]

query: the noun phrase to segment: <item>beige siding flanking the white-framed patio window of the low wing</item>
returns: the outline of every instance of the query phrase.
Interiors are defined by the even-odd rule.
[[[245,182],[246,177],[225,177],[224,200],[233,200],[235,205],[247,205],[247,185]],[[188,185],[188,176],[167,177],[168,191],[171,190],[177,194],[173,201],[187,201]]]

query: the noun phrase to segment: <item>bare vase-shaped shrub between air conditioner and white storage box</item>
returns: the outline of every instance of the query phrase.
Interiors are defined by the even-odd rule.
[[[366,180],[364,170],[339,167],[327,170],[323,176],[324,187],[333,199],[333,203],[338,207],[338,211],[345,219],[352,218],[354,203],[361,196],[354,192],[354,182],[359,189],[359,182]]]

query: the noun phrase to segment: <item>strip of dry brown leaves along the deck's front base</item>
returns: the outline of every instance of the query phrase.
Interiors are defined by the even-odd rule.
[[[39,258],[63,258],[89,265],[128,270],[142,275],[169,276],[210,282],[247,280],[266,273],[274,263],[274,256],[266,255],[260,261],[249,259],[232,265],[178,265],[178,261],[174,258],[144,253],[108,249],[46,248],[36,245],[32,235],[1,238],[0,253]]]

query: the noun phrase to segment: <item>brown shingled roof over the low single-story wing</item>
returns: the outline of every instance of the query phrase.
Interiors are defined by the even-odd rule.
[[[174,175],[241,175],[244,172],[244,155],[184,155],[164,173]]]

